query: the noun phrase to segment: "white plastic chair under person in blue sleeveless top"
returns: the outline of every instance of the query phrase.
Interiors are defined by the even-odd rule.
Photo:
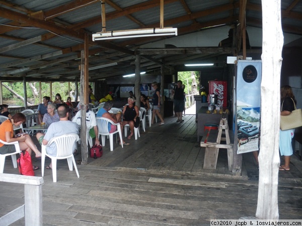
[[[101,135],[101,138],[102,138],[102,146],[105,146],[106,136],[109,136],[110,151],[113,151],[113,134],[118,133],[119,137],[120,137],[120,141],[121,141],[121,146],[123,148],[121,125],[119,123],[114,123],[110,119],[107,119],[104,117],[97,117],[96,120],[97,120],[99,135]],[[112,125],[117,127],[117,130],[114,131],[113,133],[109,133],[109,130],[108,130],[109,123],[111,123]],[[117,138],[116,138],[116,143],[117,143]]]

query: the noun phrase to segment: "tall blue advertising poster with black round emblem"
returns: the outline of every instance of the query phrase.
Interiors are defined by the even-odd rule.
[[[238,61],[238,154],[259,150],[261,65],[261,60]]]

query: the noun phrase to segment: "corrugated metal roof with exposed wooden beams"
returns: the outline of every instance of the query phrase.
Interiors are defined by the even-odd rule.
[[[76,4],[77,1],[71,0],[13,0],[8,1],[8,4],[4,6],[0,3],[0,7],[4,9],[9,9],[15,11],[17,15],[20,15],[20,18],[16,17],[7,17],[3,18],[0,15],[0,48],[11,46],[12,49],[6,52],[0,53],[0,74],[4,71],[14,71],[16,68],[21,68],[24,66],[38,67],[35,72],[27,71],[28,76],[40,76],[47,77],[47,68],[49,69],[49,78],[53,78],[52,75],[55,72],[60,74],[68,75],[72,74],[70,68],[74,68],[74,74],[79,74],[78,64],[79,60],[75,61],[75,57],[79,57],[79,53],[83,48],[83,37],[84,32],[97,33],[102,31],[102,20],[101,20],[101,2],[91,0],[93,3],[85,5],[83,7],[72,7],[65,9],[67,4]],[[81,1],[78,1],[81,5]],[[114,4],[114,5],[111,5]],[[290,13],[294,12],[295,16],[291,14],[283,15],[282,25],[283,30],[291,33],[295,33],[301,37],[302,36],[302,2],[292,2],[291,0],[282,0],[281,8],[283,10],[288,10],[288,7],[292,4],[295,4],[290,8]],[[224,10],[222,6],[228,5],[229,10]],[[68,5],[69,6],[69,5]],[[23,10],[21,9],[23,8]],[[74,9],[73,9],[74,8]],[[131,29],[141,29],[144,27],[159,27],[160,25],[160,1],[147,1],[147,0],[111,0],[110,3],[106,3],[106,30],[107,31],[118,31],[118,30],[131,30]],[[63,9],[63,10],[62,10]],[[255,10],[256,9],[256,10]],[[52,11],[50,11],[52,10]],[[25,15],[31,13],[37,13],[39,16],[43,16],[39,11],[45,12],[45,15],[48,18],[28,18],[32,20],[22,21],[22,18]],[[64,11],[64,12],[61,12]],[[48,15],[47,13],[52,12],[54,15]],[[207,14],[207,12],[210,12]],[[22,16],[22,17],[21,17]],[[146,43],[153,43],[148,46],[155,46],[155,42],[158,40],[164,40],[160,46],[163,48],[169,45],[174,46],[191,46],[196,43],[196,46],[202,46],[200,42],[206,43],[207,46],[217,46],[218,41],[228,37],[228,33],[225,31],[229,30],[229,27],[223,29],[216,29],[211,33],[211,37],[204,35],[207,40],[201,39],[201,35],[195,32],[203,31],[210,26],[219,26],[223,24],[232,24],[238,23],[239,16],[239,0],[232,1],[229,0],[212,0],[212,1],[200,1],[200,0],[184,0],[184,1],[169,1],[169,3],[164,6],[164,26],[165,27],[175,27],[178,28],[179,37],[171,38],[169,37],[146,37],[146,38],[127,38],[127,39],[116,39],[111,41],[97,41],[92,43],[90,37],[90,54],[94,55],[98,53],[99,57],[91,57],[90,64],[100,64],[100,62],[112,63],[118,62],[117,66],[112,66],[110,68],[102,68],[98,73],[96,71],[92,72],[94,76],[108,76],[110,73],[118,75],[118,71],[127,71],[133,70],[134,68],[134,59],[133,52],[128,51],[134,50],[134,48],[139,47],[140,45]],[[27,16],[26,16],[27,17]],[[52,18],[53,17],[53,18]],[[232,21],[229,18],[232,17]],[[233,19],[234,17],[234,19]],[[261,0],[249,0],[246,10],[247,17],[247,26],[256,26],[260,27],[262,19],[261,12]],[[13,21],[16,20],[16,21]],[[40,21],[39,21],[40,20]],[[32,21],[39,22],[40,24],[31,24]],[[14,24],[17,26],[39,26],[39,29],[14,29],[1,26],[1,24]],[[85,25],[85,27],[82,27]],[[151,26],[152,25],[152,26]],[[55,27],[54,27],[55,26]],[[77,28],[77,30],[73,30]],[[2,28],[2,30],[1,30]],[[81,28],[81,29],[80,29]],[[296,28],[296,29],[295,29]],[[49,33],[50,30],[52,33]],[[62,32],[62,30],[67,31]],[[4,32],[2,32],[4,31]],[[56,36],[53,34],[56,33]],[[189,34],[191,40],[187,41],[189,43],[182,43],[187,40],[184,34]],[[204,33],[205,34],[205,33]],[[208,34],[208,33],[207,33]],[[28,40],[30,38],[37,37],[39,35],[44,35],[45,40],[23,46],[22,40]],[[249,34],[250,38],[253,39],[253,32]],[[194,37],[194,38],[193,38]],[[221,37],[221,39],[220,39]],[[20,38],[22,40],[16,41],[15,38]],[[189,39],[190,40],[190,39]],[[202,40],[202,41],[200,41]],[[254,40],[253,40],[254,41]],[[20,44],[16,46],[15,44]],[[195,47],[196,47],[195,46]],[[69,48],[70,47],[70,48]],[[71,48],[72,47],[72,48]],[[161,47],[161,48],[162,48]],[[76,50],[76,52],[70,52],[71,50]],[[64,53],[60,53],[56,56],[49,57],[45,54],[58,53],[59,50],[64,50]],[[122,53],[122,54],[116,54]],[[4,57],[7,56],[7,57]],[[11,57],[16,57],[11,58]],[[24,63],[20,61],[19,58],[29,59],[32,57],[42,56],[42,60],[34,60]],[[200,54],[204,56],[204,54]],[[169,60],[172,58],[170,55],[164,54],[154,54],[150,55],[150,58],[164,60],[167,59],[166,64],[169,65]],[[190,57],[188,55],[188,57]],[[185,57],[181,57],[184,58]],[[64,61],[63,59],[67,59]],[[175,56],[175,59],[179,59]],[[59,60],[60,63],[54,63],[52,65],[47,65],[46,69],[43,69],[44,64],[47,64],[49,61]],[[143,58],[143,61],[146,61]],[[158,62],[153,62],[150,59],[147,60],[150,64],[149,68],[155,68],[156,70],[160,69],[160,64]],[[1,68],[2,65],[7,65],[10,62],[23,62],[18,65]],[[150,63],[151,62],[151,63]],[[41,68],[40,68],[40,65]],[[63,65],[63,66],[62,66]],[[72,65],[64,69],[65,65]],[[58,68],[53,68],[58,66]],[[3,66],[4,67],[4,66]],[[42,70],[43,69],[43,70]],[[42,73],[43,72],[43,73]],[[7,73],[7,72],[6,72]],[[12,72],[13,73],[13,72]],[[116,74],[117,73],[117,74]],[[156,73],[155,71],[153,73]],[[34,75],[35,74],[35,75]],[[18,75],[18,74],[17,74]]]

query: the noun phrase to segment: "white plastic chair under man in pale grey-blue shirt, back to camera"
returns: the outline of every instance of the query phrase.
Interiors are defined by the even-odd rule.
[[[48,141],[47,145],[41,145],[42,149],[42,158],[41,158],[41,167],[42,167],[42,177],[44,176],[44,165],[45,165],[45,156],[48,156],[51,159],[52,163],[52,180],[56,182],[56,161],[57,159],[67,159],[69,170],[72,171],[72,163],[74,165],[75,172],[77,172],[77,176],[80,177],[77,164],[75,164],[75,160],[72,154],[72,147],[74,142],[79,140],[78,134],[64,134],[58,137],[54,137]],[[51,156],[47,154],[46,149],[52,143],[55,143],[57,148],[56,156]]]

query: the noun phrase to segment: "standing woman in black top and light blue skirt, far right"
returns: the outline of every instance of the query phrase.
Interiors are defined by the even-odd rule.
[[[289,85],[281,87],[281,116],[290,115],[293,111],[296,100]],[[280,130],[279,149],[280,154],[284,156],[284,165],[279,167],[280,171],[289,171],[290,156],[292,155],[291,139],[293,138],[294,129]]]

